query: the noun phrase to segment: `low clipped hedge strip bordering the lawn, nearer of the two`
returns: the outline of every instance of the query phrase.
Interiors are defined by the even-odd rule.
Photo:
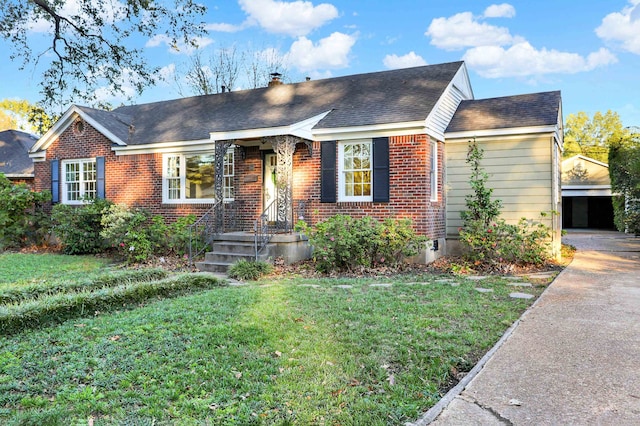
[[[153,297],[174,297],[194,290],[225,286],[211,275],[185,274],[162,281],[104,287],[94,291],[59,293],[19,304],[0,306],[0,335],[57,324],[71,318],[122,309]]]

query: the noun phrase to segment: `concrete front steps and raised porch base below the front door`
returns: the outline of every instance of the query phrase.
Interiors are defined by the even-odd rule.
[[[311,257],[311,247],[304,235],[297,233],[276,234],[260,252],[258,260],[273,262],[281,257],[286,264]],[[202,262],[196,262],[203,272],[225,273],[229,266],[241,259],[255,260],[255,237],[249,232],[229,232],[218,235],[212,243],[212,251]]]

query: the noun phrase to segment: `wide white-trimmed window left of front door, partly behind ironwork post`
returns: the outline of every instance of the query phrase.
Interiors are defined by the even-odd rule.
[[[223,197],[233,201],[233,148],[224,157]],[[165,154],[162,161],[162,200],[164,203],[215,202],[215,154]]]

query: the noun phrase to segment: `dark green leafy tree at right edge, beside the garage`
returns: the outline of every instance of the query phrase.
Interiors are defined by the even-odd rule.
[[[611,145],[609,175],[616,227],[640,234],[640,129]]]

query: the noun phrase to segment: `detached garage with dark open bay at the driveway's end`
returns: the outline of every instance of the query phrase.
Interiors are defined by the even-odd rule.
[[[614,229],[609,165],[583,155],[562,161],[563,228]]]

